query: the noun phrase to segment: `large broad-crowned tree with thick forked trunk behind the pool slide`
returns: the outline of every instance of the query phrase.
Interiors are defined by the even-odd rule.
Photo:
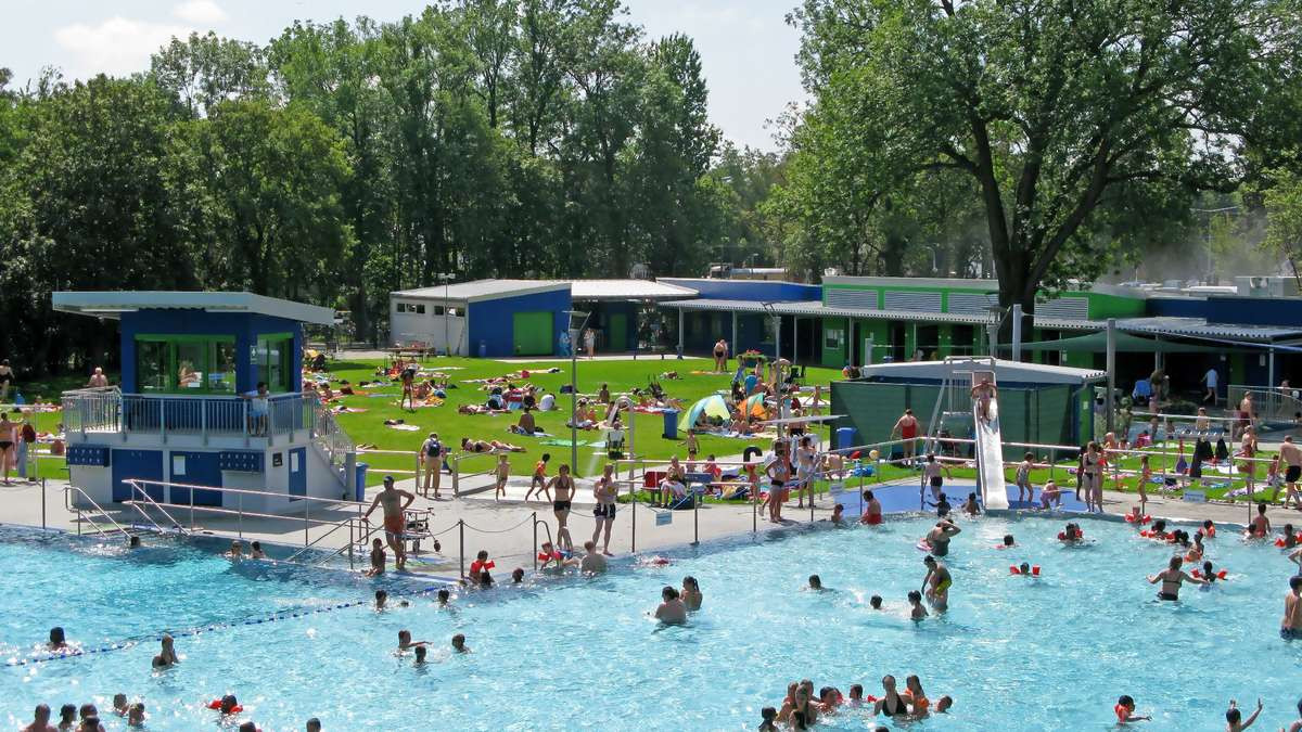
[[[889,191],[980,193],[1000,305],[1094,276],[1098,212],[1146,184],[1233,188],[1299,68],[1292,0],[806,0],[806,86]],[[1277,117],[1277,115],[1276,115]]]

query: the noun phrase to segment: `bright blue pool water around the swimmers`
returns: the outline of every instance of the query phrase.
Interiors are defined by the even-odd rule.
[[[40,701],[103,710],[125,692],[145,701],[151,729],[199,729],[216,722],[203,703],[229,692],[266,731],[302,729],[312,715],[327,729],[743,729],[762,707],[779,706],[790,680],[879,693],[881,675],[918,673],[934,701],[950,694],[956,706],[914,729],[1104,729],[1124,693],[1154,714],[1152,729],[1219,729],[1230,697],[1260,696],[1263,728],[1292,719],[1302,642],[1277,634],[1289,576],[1279,550],[1226,533],[1210,556],[1230,581],[1161,603],[1144,574],[1170,551],[1124,524],[1086,521],[1096,543],[1068,548],[1055,538],[1059,521],[967,521],[948,560],[952,610],[914,624],[905,595],[922,580],[914,543],[930,524],[725,542],[669,567],[622,564],[594,580],[533,578],[462,595],[454,612],[415,597],[385,613],[345,607],[259,625],[238,620],[333,607],[374,586],[337,573],[232,568],[184,548],[146,561],[73,538],[10,537],[0,543],[14,573],[0,598],[9,656],[23,658],[53,624],[89,643],[237,623],[180,640],[184,663],[160,673],[148,668],[154,642],[3,668],[4,712],[13,728]],[[1005,533],[1021,548],[996,551]],[[1023,559],[1043,578],[1010,577],[1008,565]],[[802,591],[815,572],[833,591]],[[700,581],[704,606],[689,626],[658,628],[646,612],[684,574]],[[401,586],[389,581],[392,591]],[[872,594],[885,611],[868,607]],[[402,628],[435,645],[432,663],[414,668],[392,654]],[[447,653],[453,633],[466,634],[471,654]],[[865,724],[858,711],[825,722]],[[109,728],[122,725],[115,718]]]

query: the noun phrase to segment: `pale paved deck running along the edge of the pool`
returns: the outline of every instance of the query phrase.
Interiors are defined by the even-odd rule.
[[[95,517],[98,528],[89,518],[78,521],[77,513],[65,508],[64,486],[64,482],[55,481],[47,482],[44,487],[40,483],[0,486],[0,522],[44,526],[83,534],[112,529],[111,524],[102,517]],[[586,539],[590,539],[595,528],[590,486],[590,482],[579,481],[569,518],[570,535],[575,547],[581,547]],[[413,485],[406,481],[400,483],[400,487],[411,490]],[[919,509],[918,483],[914,481],[874,483],[866,479],[863,487],[876,492],[888,513],[917,513]],[[536,547],[534,521],[535,518],[539,521],[536,541],[542,542],[556,531],[556,518],[552,514],[551,504],[536,498],[526,501],[526,490],[527,485],[516,478],[508,485],[506,496],[500,500],[495,499],[491,488],[465,494],[461,498],[444,494],[440,500],[418,496],[411,508],[432,511],[430,529],[436,533],[440,550],[435,551],[432,542],[423,542],[421,554],[410,563],[410,569],[431,577],[458,577],[462,550],[467,565],[479,550],[487,550],[490,556],[496,560],[499,576],[509,573],[514,567],[533,568]],[[970,485],[954,483],[947,490],[952,495],[952,503],[957,512],[962,499],[970,490],[975,488]],[[368,490],[367,499],[372,499],[378,491],[379,488]],[[1013,498],[1016,498],[1016,488],[1013,491]],[[747,534],[763,538],[763,534],[773,530],[792,529],[811,521],[825,521],[836,501],[845,505],[848,520],[855,520],[862,505],[858,479],[849,481],[844,492],[819,496],[812,511],[807,504],[803,509],[797,508],[796,501],[792,500],[784,508],[785,521],[783,524],[771,524],[766,517],[755,516],[751,504],[704,504],[697,511],[673,512],[654,509],[646,504],[637,507],[620,504],[611,531],[611,551],[616,556],[629,555],[634,551],[639,555],[650,555],[689,546],[697,541],[710,542]],[[1104,492],[1104,509],[1112,517],[1128,513],[1135,503],[1135,496],[1131,494]],[[1068,498],[1064,508],[1068,511],[1051,514],[1060,516],[1066,521],[1078,516],[1073,509],[1079,508],[1079,503],[1074,498]],[[238,520],[197,512],[193,517],[194,531],[224,538],[242,537],[245,541],[256,539],[284,547],[302,547],[305,543],[314,543],[318,548],[342,550],[341,556],[346,560],[346,547],[350,542],[349,530],[346,526],[341,529],[336,526],[337,522],[358,516],[358,508],[355,505],[326,507],[324,504],[314,504],[309,511],[312,524],[307,524],[306,530],[305,522],[296,518]],[[1242,525],[1250,518],[1250,511],[1253,511],[1251,507],[1246,504],[1190,503],[1159,496],[1148,501],[1148,513],[1152,516],[1193,522],[1211,518],[1217,524]],[[186,529],[190,528],[191,517],[186,508],[177,507],[171,511],[171,514],[178,524]],[[663,514],[669,516],[668,524],[658,522],[658,516]],[[111,516],[128,529],[148,526],[139,513],[128,507],[112,509]],[[1285,522],[1302,525],[1302,512],[1298,511],[1272,507],[1269,516],[1272,522],[1277,525]],[[167,524],[167,521],[156,518],[160,524]],[[660,521],[664,520],[660,518]],[[962,517],[958,520],[963,521]],[[371,525],[379,525],[379,516],[372,517]],[[148,528],[152,529],[152,526]],[[366,557],[361,550],[357,550],[354,560],[358,568],[365,567]]]

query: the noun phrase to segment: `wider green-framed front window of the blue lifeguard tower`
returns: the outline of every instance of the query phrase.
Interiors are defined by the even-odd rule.
[[[135,336],[141,393],[234,393],[234,336]]]

